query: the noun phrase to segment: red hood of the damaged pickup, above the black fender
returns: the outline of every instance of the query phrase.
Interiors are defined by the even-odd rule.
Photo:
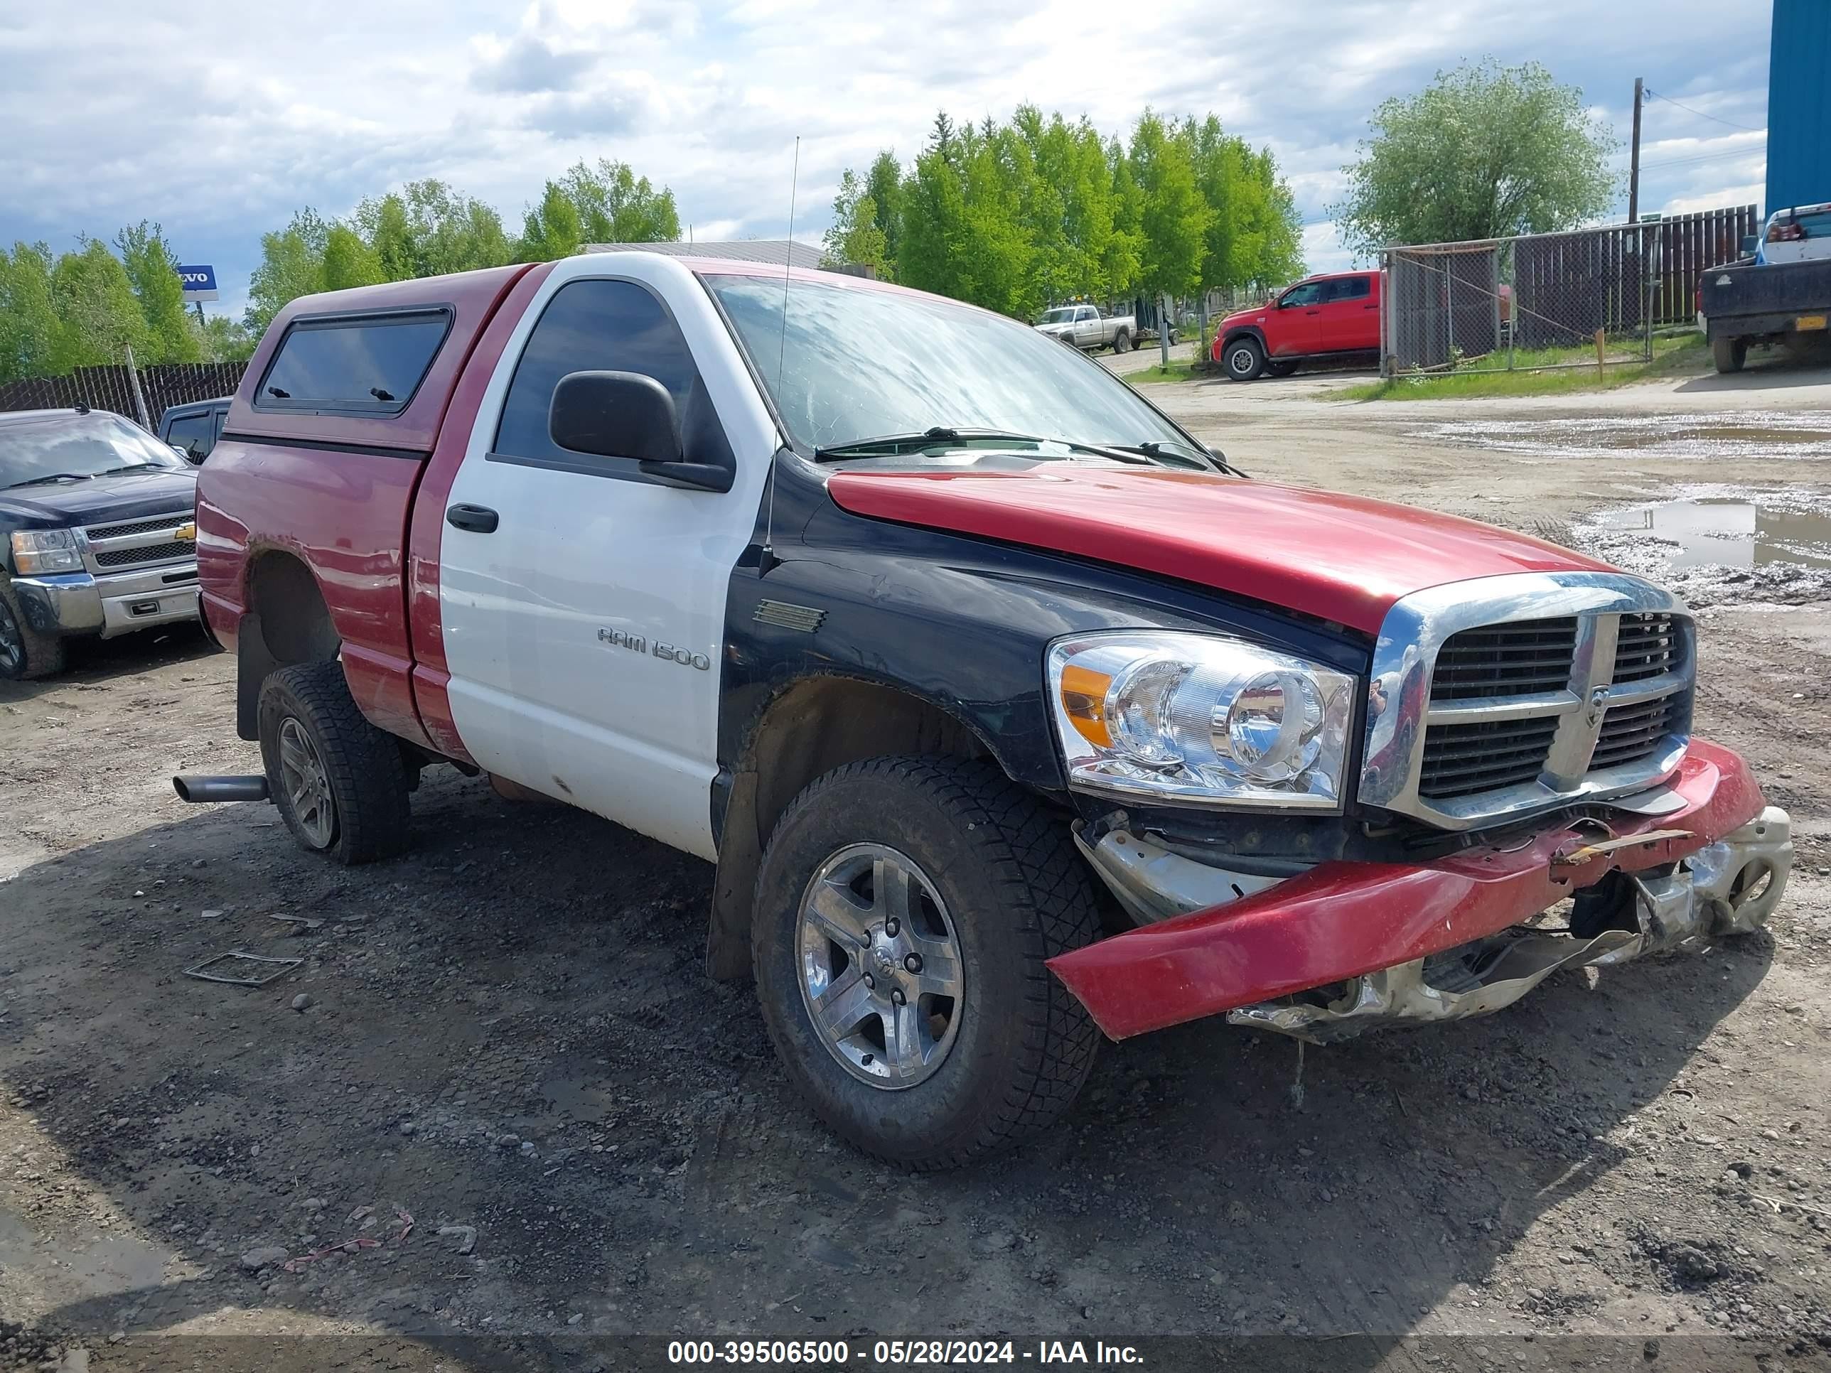
[[[1608,571],[1507,529],[1379,500],[1163,469],[835,472],[855,514],[1176,577],[1375,633],[1412,591],[1518,571]]]

